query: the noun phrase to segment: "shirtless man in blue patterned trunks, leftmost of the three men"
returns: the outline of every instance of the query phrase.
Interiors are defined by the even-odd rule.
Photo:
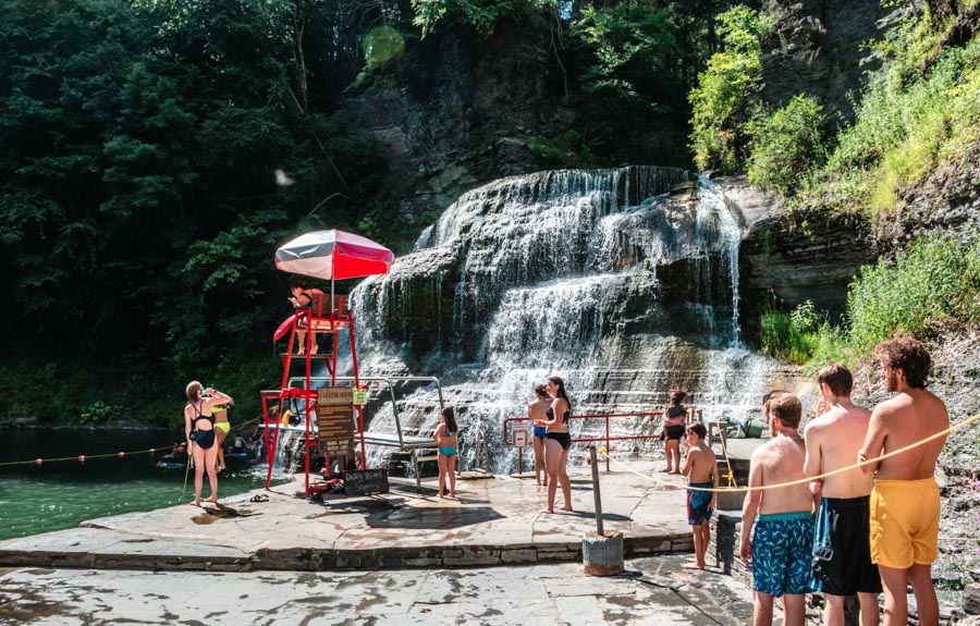
[[[807,450],[797,431],[803,413],[799,398],[786,393],[765,405],[772,439],[752,453],[749,487],[803,480]],[[783,624],[803,626],[804,600],[811,590],[812,547],[813,496],[806,482],[746,494],[738,553],[752,565],[755,626],[772,624],[772,601],[780,597]]]

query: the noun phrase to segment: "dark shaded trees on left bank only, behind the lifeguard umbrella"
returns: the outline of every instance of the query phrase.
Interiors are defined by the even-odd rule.
[[[0,243],[20,359],[95,357],[151,415],[193,377],[255,395],[240,367],[215,377],[284,312],[271,250],[327,220],[356,224],[384,171],[335,103],[357,69],[338,60],[359,56],[335,9],[3,2]],[[329,214],[310,211],[331,196]],[[46,371],[26,376],[52,386]],[[56,403],[62,418],[95,402],[94,378]],[[50,400],[9,410],[45,414]]]

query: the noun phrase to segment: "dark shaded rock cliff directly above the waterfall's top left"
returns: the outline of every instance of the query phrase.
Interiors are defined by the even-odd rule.
[[[610,162],[685,161],[676,121],[580,90],[580,69],[566,52],[556,56],[553,27],[543,15],[502,22],[488,37],[441,25],[352,96],[385,147],[397,214],[409,230],[492,180],[580,165],[566,145],[572,137]]]

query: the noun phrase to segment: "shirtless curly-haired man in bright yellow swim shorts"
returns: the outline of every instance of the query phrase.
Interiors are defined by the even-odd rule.
[[[926,389],[931,359],[922,343],[902,337],[874,346],[881,376],[889,391],[898,395],[880,403],[858,461],[874,459],[922,441],[950,427],[946,405]],[[935,459],[946,438],[940,437],[879,463],[863,466],[878,470],[871,491],[871,560],[878,563],[884,587],[885,626],[908,621],[906,581],[911,582],[919,609],[919,624],[939,624],[939,602],[932,586],[932,563],[939,555],[940,495]]]

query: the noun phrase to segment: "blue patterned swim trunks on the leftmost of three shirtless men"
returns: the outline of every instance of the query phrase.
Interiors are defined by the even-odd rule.
[[[809,511],[760,515],[752,531],[752,590],[780,598],[811,593],[813,516]]]

